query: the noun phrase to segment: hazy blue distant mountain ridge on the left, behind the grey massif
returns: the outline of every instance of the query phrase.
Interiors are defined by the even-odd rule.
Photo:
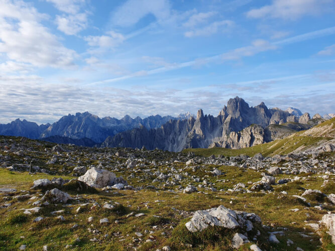
[[[143,119],[139,116],[132,118],[129,115],[121,119],[114,117],[99,118],[89,112],[77,112],[75,115],[68,114],[63,116],[52,124],[47,123],[41,124],[40,126],[35,122],[30,122],[25,119],[20,120],[18,118],[11,123],[0,124],[0,135],[22,136],[30,139],[52,139],[54,143],[70,142],[70,140],[50,137],[60,136],[74,140],[87,138],[97,144],[103,142],[108,136],[114,136],[133,128],[157,128],[171,119],[180,118],[173,116],[162,117],[160,115],[148,116]],[[82,142],[88,143],[88,141]],[[91,142],[89,142],[87,146],[90,145]]]

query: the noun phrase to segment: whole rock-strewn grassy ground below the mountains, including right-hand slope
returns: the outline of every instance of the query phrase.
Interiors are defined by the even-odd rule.
[[[180,153],[2,136],[0,249],[334,250],[334,134]]]

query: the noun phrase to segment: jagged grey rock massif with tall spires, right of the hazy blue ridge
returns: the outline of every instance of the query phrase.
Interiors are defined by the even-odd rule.
[[[292,112],[292,113],[290,113]],[[186,148],[223,147],[240,149],[283,139],[325,121],[319,114],[301,116],[297,109],[268,109],[262,102],[255,107],[240,97],[231,98],[214,117],[200,109],[196,118],[169,120],[161,128],[145,127],[108,137],[102,147],[131,147],[180,152]],[[296,115],[294,115],[296,114]]]

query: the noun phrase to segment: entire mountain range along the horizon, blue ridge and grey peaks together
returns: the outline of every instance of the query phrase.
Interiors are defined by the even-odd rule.
[[[287,110],[267,108],[264,102],[250,107],[243,98],[231,98],[215,117],[190,112],[173,116],[129,115],[122,119],[99,118],[89,112],[68,114],[50,124],[19,118],[0,124],[0,135],[22,136],[60,144],[101,147],[163,149],[178,152],[185,148],[224,147],[239,149],[282,139],[292,133],[309,129],[333,117],[322,118],[289,107]]]

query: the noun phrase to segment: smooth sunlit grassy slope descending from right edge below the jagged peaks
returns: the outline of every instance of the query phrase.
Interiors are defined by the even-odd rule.
[[[274,156],[276,154],[288,154],[296,149],[305,149],[307,147],[316,146],[322,141],[333,139],[335,132],[335,118],[329,119],[317,126],[307,130],[295,133],[285,139],[276,140],[266,144],[257,145],[254,147],[243,149],[228,149],[228,148],[210,148],[210,149],[185,149],[184,152],[194,152],[197,155],[224,155],[237,156],[247,154],[254,156],[261,153],[263,156]],[[329,137],[330,136],[330,137]]]

